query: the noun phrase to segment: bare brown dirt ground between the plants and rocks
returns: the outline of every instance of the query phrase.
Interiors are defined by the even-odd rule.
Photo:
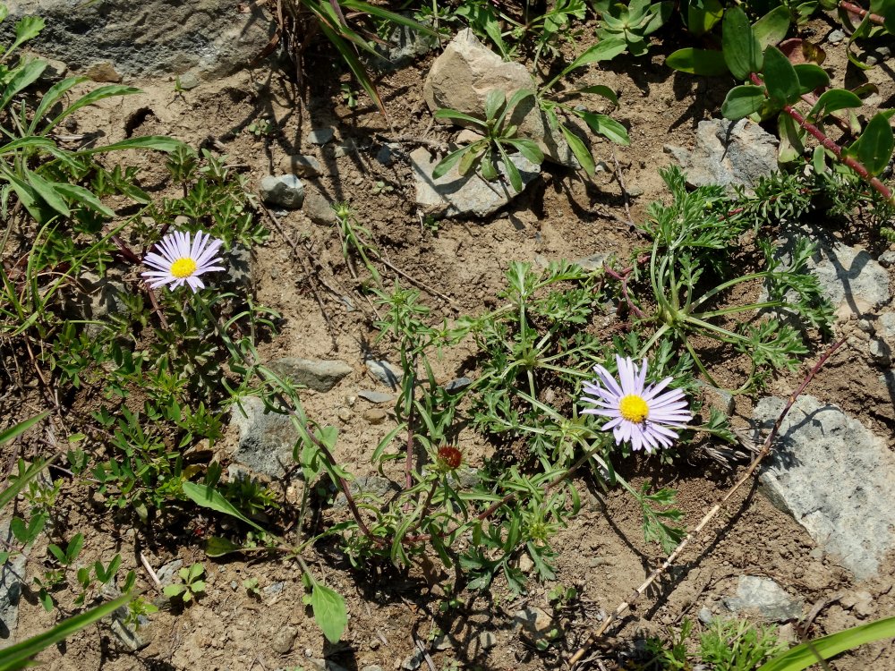
[[[811,30],[820,39],[831,27],[818,21]],[[592,30],[585,32],[592,34]],[[141,96],[104,100],[81,114],[79,123],[81,128],[104,130],[110,141],[124,137],[128,129],[138,135],[170,134],[193,147],[211,143],[223,148],[228,163],[251,175],[256,184],[265,174],[282,172],[279,166],[288,155],[303,153],[320,158],[328,174],[306,180],[308,191],[316,191],[328,201],[350,201],[359,221],[371,230],[392,263],[450,298],[447,303],[423,295],[432,309],[432,321],[437,322],[443,317],[453,319],[493,308],[504,285],[503,274],[513,260],[537,263],[595,253],[627,259],[636,245],[643,244],[626,223],[625,196],[618,175],[626,191],[637,194],[631,197],[630,217],[641,221],[650,201],[668,198],[657,172],[657,168],[671,163],[663,145],[692,146],[696,123],[719,115],[726,92],[722,82],[665,67],[665,56],[677,47],[659,44],[643,59],[619,57],[607,68],[593,67],[584,74],[583,84],[601,83],[618,91],[620,108],[615,116],[631,129],[630,147],[598,142],[598,157],[608,171],[588,180],[583,174],[547,165],[541,180],[495,217],[488,221],[440,221],[437,232],[422,225],[414,207],[413,178],[404,157],[399,156],[392,166],[383,166],[375,159],[381,145],[389,140],[405,139],[402,147],[409,153],[415,149],[416,139],[443,141],[456,134],[457,129],[431,124],[422,99],[422,80],[435,54],[381,75],[377,85],[388,118],[379,115],[363,97],[356,109],[345,106],[339,84],[350,80],[337,75],[331,58],[320,57],[311,64],[315,76],[306,106],[295,98],[288,69],[269,64],[181,93],[175,92],[173,81],[135,82],[144,90]],[[829,50],[831,59],[833,51]],[[825,66],[831,68],[834,82],[843,81],[844,61],[833,60]],[[876,68],[861,75],[880,87],[875,104],[891,102],[895,95],[890,73]],[[848,76],[858,75],[849,70]],[[256,137],[246,130],[260,120],[267,120],[276,131]],[[335,128],[336,139],[323,147],[308,144],[308,132],[322,127]],[[356,150],[337,157],[336,148],[351,142]],[[151,169],[144,179],[151,182]],[[376,192],[377,182],[393,190]],[[347,470],[356,475],[374,474],[372,450],[395,420],[388,408],[388,419],[371,425],[363,417],[363,411],[371,405],[362,399],[351,405],[349,398],[358,389],[373,388],[363,364],[364,344],[376,337],[371,310],[365,304],[348,310],[338,300],[337,293],[355,297],[357,293],[332,226],[314,224],[302,211],[288,212],[278,220],[293,241],[301,242],[312,253],[303,265],[283,237],[273,232],[270,242],[259,248],[253,259],[259,302],[285,318],[281,334],[265,344],[261,353],[268,359],[294,355],[352,363],[354,374],[326,394],[303,392],[303,403],[315,420],[339,428],[336,455]],[[835,235],[850,244],[863,244],[874,254],[884,249],[873,238],[854,239],[848,230]],[[312,266],[309,259],[316,265]],[[309,272],[334,289],[321,293],[328,319],[323,318],[311,292]],[[851,334],[854,339],[823,369],[809,393],[839,404],[878,435],[888,436],[890,447],[895,447],[891,397],[877,381],[881,371],[869,360],[855,325],[852,320],[837,327],[838,333]],[[393,361],[396,358],[396,352],[381,353],[390,355]],[[461,362],[469,353],[464,347],[446,352],[436,370],[439,379],[447,381],[463,374]],[[805,369],[818,353],[806,361]],[[723,380],[725,372],[717,372]],[[800,375],[777,378],[768,392],[788,395],[800,379]],[[737,402],[737,426],[746,426],[751,403],[752,399],[746,398]],[[340,419],[343,408],[351,410],[350,419]],[[234,439],[232,435],[228,438]],[[461,440],[474,447],[473,454],[487,452],[484,439],[471,430],[467,429]],[[632,458],[620,463],[619,470],[635,485],[649,480],[675,488],[689,528],[718,501],[736,476],[697,454],[685,454],[674,466]],[[47,650],[39,659],[53,671],[314,668],[310,660],[324,657],[347,669],[368,665],[392,669],[400,667],[419,644],[430,651],[432,669],[558,668],[599,623],[601,614],[626,600],[662,558],[658,548],[644,543],[639,512],[629,497],[619,490],[604,493],[586,478],[576,484],[584,493],[584,509],[560,532],[554,545],[559,553],[557,582],[574,586],[580,594],[574,607],[552,609],[548,592],[553,584],[530,581],[528,594],[515,599],[498,581],[489,594],[464,592],[460,606],[441,612],[438,606],[445,594],[424,571],[400,573],[383,565],[375,572],[358,573],[349,568],[337,548],[327,546],[318,548],[316,555],[312,552],[309,563],[347,601],[349,624],[343,641],[336,646],[325,642],[302,606],[304,589],[296,565],[240,556],[211,560],[204,556],[199,537],[184,538],[175,530],[170,530],[167,538],[148,537],[130,522],[108,514],[85,488],[75,488],[70,497],[61,497],[59,514],[70,528],[85,531],[84,561],[107,559],[120,552],[123,567],[136,570],[144,586],[150,583],[141,567],[141,553],[156,569],[175,558],[182,559],[184,565],[201,561],[207,567],[208,589],[190,607],[181,611],[162,609],[152,616],[143,632],[149,644],[138,652],[124,650],[107,627],[100,625]],[[172,541],[175,537],[177,542]],[[38,556],[43,551],[36,550]],[[684,617],[695,619],[706,602],[733,593],[737,576],[742,574],[772,578],[805,599],[806,609],[825,601],[811,630],[812,635],[821,635],[895,614],[893,573],[889,561],[881,577],[854,582],[848,571],[814,550],[814,542],[802,527],[776,510],[757,489],[745,488],[706,536],[645,595],[614,637],[601,643],[588,664],[592,668],[623,667],[626,656],[635,653],[638,640],[645,635],[666,636]],[[260,598],[243,589],[242,582],[247,578],[258,579]],[[855,603],[852,597],[861,590],[872,596],[869,610],[848,606]],[[527,634],[512,626],[516,611],[524,607],[541,608],[558,627],[558,641],[546,652],[536,650]],[[45,613],[26,594],[21,601],[18,636],[38,633],[53,624],[57,616],[58,612]],[[292,628],[294,643],[286,645],[283,641]],[[444,650],[430,646],[436,630],[447,634],[449,644],[439,646]],[[483,646],[482,632],[494,633],[497,644]],[[451,667],[453,662],[456,667]],[[422,667],[429,667],[429,661],[423,661]],[[867,645],[831,662],[830,667],[838,671],[895,669],[895,650],[886,644]]]

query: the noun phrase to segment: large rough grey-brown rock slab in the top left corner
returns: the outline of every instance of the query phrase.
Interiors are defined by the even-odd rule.
[[[12,0],[5,3],[10,17],[0,25],[3,43],[9,43],[13,24],[21,16],[39,13],[47,27],[29,47],[63,60],[74,70],[116,73],[116,78],[148,77],[193,72],[211,80],[236,72],[251,63],[277,30],[273,18],[260,6],[207,0],[106,0],[81,3],[70,0]],[[135,27],[139,30],[135,32]],[[109,80],[108,74],[102,75]],[[113,78],[115,79],[115,78]]]

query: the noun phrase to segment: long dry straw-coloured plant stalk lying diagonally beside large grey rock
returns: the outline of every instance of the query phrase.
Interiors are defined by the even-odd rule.
[[[796,391],[794,391],[792,395],[789,396],[786,407],[783,408],[783,412],[780,412],[780,417],[778,417],[777,420],[774,422],[774,426],[771,429],[771,432],[768,434],[768,437],[764,439],[762,449],[759,451],[758,455],[754,458],[752,463],[749,464],[749,467],[746,469],[743,477],[737,480],[737,483],[728,489],[727,493],[723,497],[721,497],[720,501],[712,507],[712,510],[710,510],[703,516],[702,521],[700,521],[699,524],[696,525],[696,528],[693,531],[690,531],[686,535],[685,539],[680,541],[678,547],[675,548],[674,551],[668,556],[668,559],[666,559],[661,566],[654,569],[652,573],[650,573],[643,584],[641,584],[640,587],[634,590],[631,596],[628,597],[628,600],[622,601],[620,604],[618,604],[618,607],[616,607],[616,609],[613,610],[605,620],[603,620],[602,624],[595,630],[593,630],[591,635],[587,637],[587,641],[584,641],[584,645],[577,652],[575,652],[575,655],[573,655],[572,658],[569,659],[569,667],[575,667],[575,665],[579,661],[581,661],[581,658],[584,657],[584,654],[587,652],[588,649],[590,649],[593,642],[600,638],[603,633],[605,633],[606,630],[609,629],[610,624],[617,622],[618,619],[621,618],[621,616],[624,616],[626,614],[632,604],[634,604],[644,595],[644,592],[649,589],[650,585],[652,585],[653,582],[656,582],[659,576],[661,576],[662,573],[665,573],[665,571],[668,570],[669,566],[674,563],[674,560],[677,559],[678,556],[680,556],[681,553],[690,545],[690,543],[703,532],[708,523],[712,522],[715,515],[720,513],[724,506],[727,505],[730,498],[733,497],[733,495],[737,492],[737,489],[742,487],[747,480],[752,479],[752,476],[755,472],[755,469],[758,467],[758,464],[762,462],[765,456],[770,454],[771,446],[774,443],[774,439],[780,432],[780,426],[783,424],[783,420],[786,419],[786,416],[792,409],[793,404],[796,403],[797,398],[802,395],[802,393],[805,391],[805,387],[808,386],[808,383],[811,382],[811,380],[814,378],[814,375],[816,375],[817,372],[821,368],[823,368],[823,364],[826,363],[828,359],[830,359],[833,352],[836,352],[836,350],[838,350],[844,343],[845,339],[842,339],[832,344],[830,349],[824,352],[820,360],[817,361],[817,363],[814,364],[814,367],[808,371],[805,379],[802,380],[802,384],[800,384],[797,387]]]

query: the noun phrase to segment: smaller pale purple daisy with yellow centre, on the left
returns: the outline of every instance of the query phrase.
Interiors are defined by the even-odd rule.
[[[191,240],[188,233],[167,234],[158,243],[160,253],[150,251],[143,259],[143,263],[152,270],[141,275],[153,289],[164,285],[170,285],[169,289],[176,289],[186,284],[192,289],[192,293],[196,293],[205,287],[199,279],[202,273],[226,269],[212,265],[222,260],[215,257],[222,244],[223,242],[209,234],[204,234],[203,237],[201,231],[196,234],[195,240]]]

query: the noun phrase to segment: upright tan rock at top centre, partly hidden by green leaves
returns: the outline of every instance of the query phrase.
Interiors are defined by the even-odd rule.
[[[435,59],[422,95],[432,112],[449,107],[466,115],[484,118],[485,97],[492,89],[504,91],[507,99],[519,89],[535,90],[532,75],[524,65],[504,61],[466,29],[457,33]],[[456,123],[453,120],[449,123]],[[516,106],[509,123],[518,125],[517,135],[534,140],[544,156],[562,166],[578,167],[578,162],[561,133],[550,131],[550,123],[528,98]],[[461,123],[461,125],[463,125]]]

